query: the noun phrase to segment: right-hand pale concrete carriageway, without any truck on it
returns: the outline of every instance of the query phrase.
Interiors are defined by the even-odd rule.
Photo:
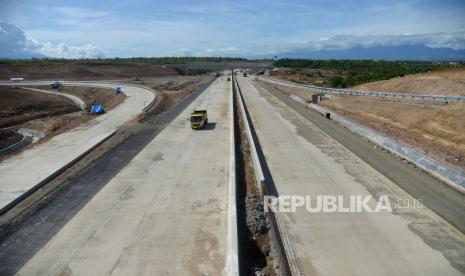
[[[393,213],[280,213],[305,275],[462,275],[465,236],[276,97],[238,78],[280,196],[387,195]],[[400,208],[405,200],[411,207]],[[315,201],[312,206],[315,207]],[[347,206],[347,202],[345,203]],[[374,200],[369,205],[374,207]]]

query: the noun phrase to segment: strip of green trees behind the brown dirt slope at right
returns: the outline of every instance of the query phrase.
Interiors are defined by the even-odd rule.
[[[403,77],[408,74],[440,70],[455,65],[383,60],[280,59],[274,62],[274,66],[293,69],[335,70],[339,75],[331,77],[324,85],[344,88],[372,81]]]

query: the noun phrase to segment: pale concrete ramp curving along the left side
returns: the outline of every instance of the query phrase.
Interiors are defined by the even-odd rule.
[[[67,84],[93,85],[79,82]],[[102,83],[98,85],[108,88],[115,86]],[[154,93],[148,89],[127,85],[121,87],[127,97],[111,112],[0,163],[0,210],[111,135],[118,126],[141,113],[155,99]]]

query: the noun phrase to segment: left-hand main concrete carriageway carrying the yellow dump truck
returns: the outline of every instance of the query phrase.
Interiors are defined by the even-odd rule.
[[[221,275],[231,82],[218,78],[66,224],[19,275]],[[192,130],[194,109],[208,127]]]

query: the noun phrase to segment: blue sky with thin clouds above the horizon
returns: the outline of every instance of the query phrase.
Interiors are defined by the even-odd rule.
[[[247,57],[392,43],[464,49],[465,0],[0,0],[3,52]]]

